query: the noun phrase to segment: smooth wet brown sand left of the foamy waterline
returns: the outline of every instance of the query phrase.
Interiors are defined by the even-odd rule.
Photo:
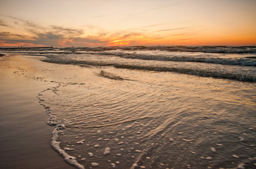
[[[0,168],[75,168],[52,149],[54,128],[46,124],[47,114],[36,97],[55,84],[26,78],[22,74],[26,70],[17,65],[32,63],[23,61],[0,57]]]

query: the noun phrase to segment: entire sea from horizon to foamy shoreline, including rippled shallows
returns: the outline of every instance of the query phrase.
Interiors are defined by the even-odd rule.
[[[256,46],[2,52],[94,72],[37,96],[53,148],[77,168],[256,168]]]

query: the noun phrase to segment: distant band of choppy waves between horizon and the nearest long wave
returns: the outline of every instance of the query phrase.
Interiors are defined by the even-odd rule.
[[[101,55],[125,59],[256,66],[255,46],[125,46],[9,50],[20,55]],[[212,54],[210,54],[212,53]]]

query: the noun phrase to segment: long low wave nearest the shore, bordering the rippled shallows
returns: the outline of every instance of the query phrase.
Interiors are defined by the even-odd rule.
[[[92,66],[114,66],[122,69],[139,69],[157,72],[176,72],[182,74],[198,75],[200,77],[213,77],[223,79],[234,79],[237,81],[256,82],[255,67],[237,65],[217,65],[208,63],[182,63],[181,61],[159,61],[148,60],[146,63],[139,63],[138,59],[123,61],[109,59],[93,59],[95,56],[83,58],[84,60],[74,59],[72,56],[49,56],[47,61],[58,64],[92,65]],[[80,59],[80,58],[79,58]]]

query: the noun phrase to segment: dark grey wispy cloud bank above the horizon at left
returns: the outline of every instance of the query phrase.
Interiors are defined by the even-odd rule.
[[[0,32],[0,41],[6,45],[19,45],[20,43],[28,45],[42,46],[87,46],[87,45],[107,45],[103,36],[105,33],[99,33],[98,36],[84,35],[84,29],[67,28],[65,26],[49,25],[42,26],[30,20],[23,20],[16,17],[8,17],[12,20],[12,26],[19,27],[23,34],[14,34],[11,32]],[[7,26],[3,20],[0,25]],[[86,29],[95,29],[95,26],[88,25]],[[26,34],[24,34],[24,32]]]

